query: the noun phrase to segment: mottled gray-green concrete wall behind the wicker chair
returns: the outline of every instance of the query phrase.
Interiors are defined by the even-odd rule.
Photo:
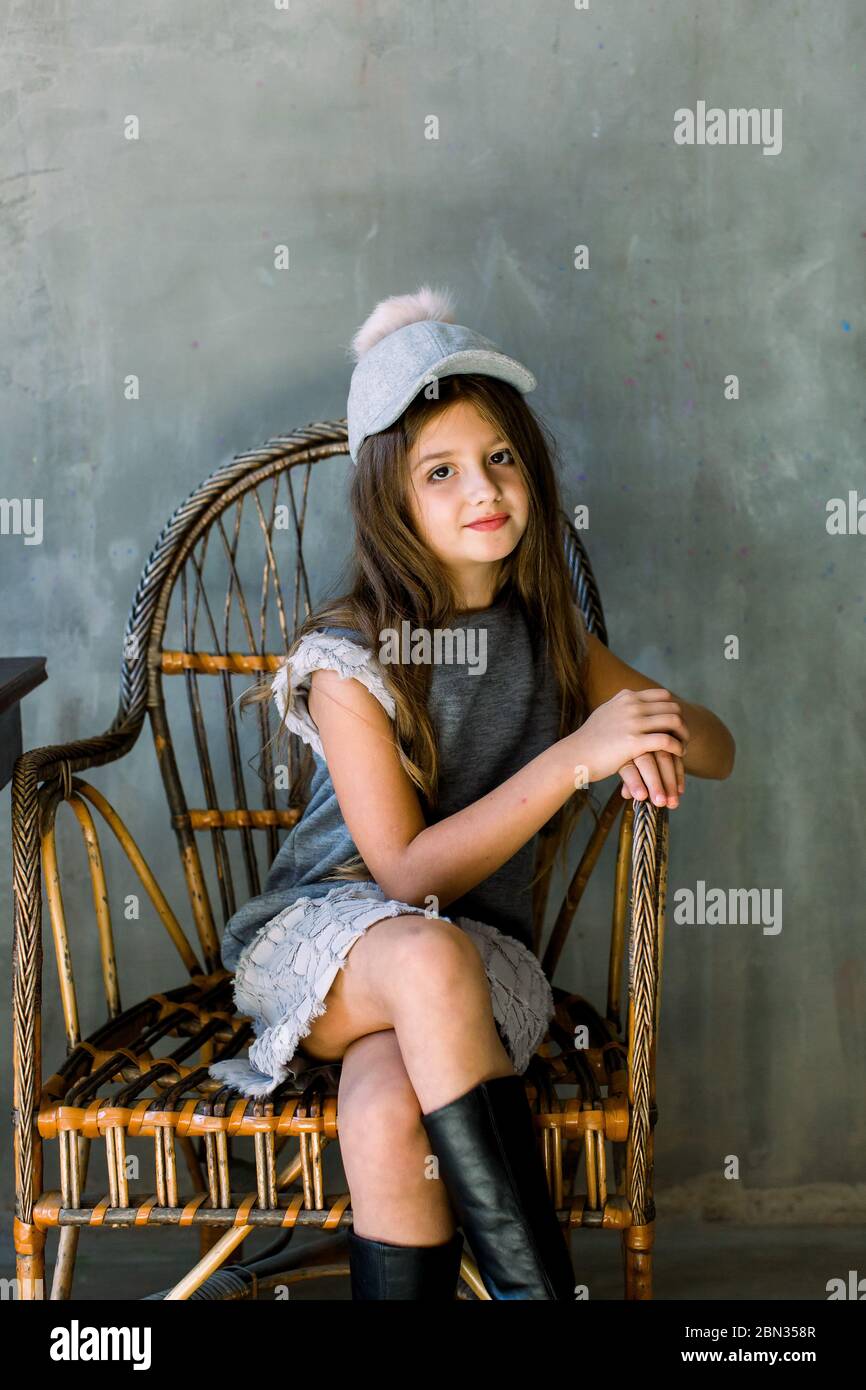
[[[343,345],[374,303],[450,285],[459,318],[538,375],[566,503],[589,506],[613,651],[737,739],[733,778],[689,778],[671,812],[671,909],[698,880],[781,894],[776,934],[669,912],[659,1193],[699,1180],[748,1218],[755,1188],[784,1187],[798,1218],[826,1211],[810,1193],[862,1177],[866,1140],[866,538],[827,530],[831,498],[866,495],[863,7],[3,11],[0,492],[42,498],[43,532],[0,537],[0,649],[47,655],[50,674],[25,703],[25,746],[111,721],[139,573],[193,485],[341,417]],[[780,108],[781,149],[676,143],[674,113],[698,103]],[[317,525],[348,545],[339,493]],[[149,731],[93,781],[188,920]],[[67,817],[89,1031],[99,954],[75,835]],[[129,1004],[182,972],[150,913],[122,919],[133,888],[107,852]],[[598,884],[559,977],[599,1005],[607,923]],[[49,940],[46,1072],[61,1056]],[[8,1119],[3,1159],[8,1200]]]

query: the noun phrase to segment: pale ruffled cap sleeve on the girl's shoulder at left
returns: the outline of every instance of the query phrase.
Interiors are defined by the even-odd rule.
[[[285,717],[291,733],[297,734],[320,758],[324,759],[325,753],[318,737],[318,728],[313,723],[307,708],[310,674],[316,670],[331,670],[336,671],[343,680],[354,678],[360,681],[371,695],[375,695],[389,719],[393,719],[396,705],[385,685],[382,669],[370,648],[352,641],[349,637],[306,632],[292,656],[286,657],[277,671],[271,684],[271,694],[279,710],[281,720]],[[289,705],[288,713],[286,703]]]

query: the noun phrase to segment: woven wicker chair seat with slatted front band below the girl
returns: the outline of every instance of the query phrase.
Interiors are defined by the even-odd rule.
[[[574,1195],[574,1177],[584,1143],[603,1155],[605,1140],[621,1147],[627,1138],[623,1044],[587,999],[557,988],[553,995],[550,1033],[525,1073],[550,1193],[560,1220],[621,1229],[630,1223],[621,1183],[616,1195],[603,1184]],[[592,1041],[585,1049],[574,1047],[578,1023]],[[60,1144],[61,1191],[38,1197],[35,1223],[350,1226],[349,1193],[324,1193],[321,1155],[338,1136],[332,1077],[320,1072],[303,1090],[289,1079],[264,1099],[220,1086],[210,1062],[242,1052],[250,1038],[250,1020],[234,1011],[232,977],[217,970],[149,995],[81,1041],[42,1091],[39,1133]],[[74,1137],[104,1141],[107,1193],[83,1193],[89,1144],[79,1147]],[[253,1138],[247,1163],[229,1151],[229,1141],[245,1137]],[[132,1162],[128,1144],[140,1138],[154,1145],[153,1190],[136,1195],[131,1175],[143,1176],[143,1163]],[[291,1138],[297,1151],[292,1145],[281,1172],[278,1158]],[[181,1193],[178,1148],[192,1191]],[[238,1190],[247,1176],[242,1169],[252,1190]]]

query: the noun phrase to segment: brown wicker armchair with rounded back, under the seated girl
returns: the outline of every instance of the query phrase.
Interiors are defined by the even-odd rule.
[[[350,1197],[349,1193],[327,1195],[322,1177],[322,1154],[338,1137],[332,1077],[327,1084],[314,1076],[303,1091],[292,1090],[289,1080],[268,1099],[247,1101],[221,1087],[207,1072],[210,1062],[243,1054],[253,1036],[250,1020],[234,1011],[232,977],[221,966],[222,924],[239,902],[261,891],[261,869],[267,872],[277,853],[278,833],[288,831],[302,813],[311,763],[310,749],[292,735],[289,766],[284,770],[288,806],[278,806],[274,744],[265,746],[271,733],[268,710],[254,706],[264,773],[261,780],[253,774],[253,784],[265,805],[252,809],[240,756],[239,735],[245,730],[232,701],[256,673],[267,678],[278,667],[302,610],[304,617],[310,612],[304,518],[317,488],[325,489],[325,507],[342,496],[341,456],[346,455],[345,421],[327,421],[271,439],[217,468],[174,513],[145,566],[126,623],[120,706],[111,727],[95,738],[32,749],[17,759],[13,1123],[21,1298],[46,1297],[46,1233],[56,1227],[60,1234],[51,1298],[72,1295],[78,1236],[82,1227],[93,1226],[113,1232],[197,1226],[196,1262],[168,1298],[249,1298],[277,1286],[282,1297],[282,1290],[297,1280],[348,1275],[345,1230],[352,1223]],[[285,502],[279,500],[281,488]],[[311,512],[317,509],[314,503]],[[278,518],[288,518],[289,524],[279,527]],[[277,545],[275,528],[282,531]],[[564,514],[563,541],[587,627],[606,642],[592,570]],[[275,549],[281,562],[285,556],[284,567],[292,580],[291,603],[284,598]],[[245,575],[250,575],[249,588],[254,589],[249,605]],[[218,609],[211,607],[209,588],[221,595]],[[174,630],[168,628],[170,607]],[[175,645],[170,631],[177,634]],[[183,708],[179,682],[165,682],[172,676],[183,677],[192,741],[172,737],[170,728],[168,708],[172,703],[178,710]],[[239,681],[238,689],[232,688],[232,678]],[[164,689],[165,684],[170,689]],[[218,724],[207,717],[209,701]],[[188,920],[195,926],[195,944],[125,821],[96,785],[78,776],[126,758],[140,734],[145,712],[150,716],[170,821],[189,890]],[[196,758],[190,756],[193,749]],[[200,796],[202,809],[189,805],[192,778],[181,777],[182,755],[192,767],[197,759],[202,791],[195,796]],[[88,1038],[79,1031],[56,851],[56,816],[64,803],[83,837],[106,994],[106,1020]],[[108,890],[93,810],[117,837],[183,966],[185,983],[129,1008],[121,1005],[118,991]],[[585,884],[620,810],[605,1013],[598,1013],[581,995],[555,987],[556,1015],[525,1083],[550,1194],[569,1237],[574,1227],[582,1226],[619,1232],[624,1297],[645,1300],[652,1297],[655,1227],[655,1049],[669,833],[663,808],[626,801],[619,785],[614,788],[595,820],[542,965],[552,980]],[[581,819],[578,826],[582,823]],[[200,852],[206,838],[213,851],[213,869],[209,865],[207,870]],[[546,872],[534,901],[537,951],[550,883],[550,845],[549,834],[539,837],[539,863]],[[42,884],[67,1031],[67,1056],[47,1079],[43,1079],[40,1029]],[[623,1034],[624,972],[628,995]],[[150,1190],[132,1193],[126,1145],[139,1138],[153,1141],[153,1177],[142,1172]],[[93,1140],[106,1147],[108,1190],[101,1194],[86,1193]],[[58,1145],[60,1191],[43,1191],[43,1144],[49,1141]],[[149,1145],[142,1147],[147,1161]],[[299,1226],[335,1234],[292,1250]],[[279,1230],[274,1232],[277,1240],[268,1248],[268,1258],[247,1268],[242,1264],[243,1252],[236,1251],[257,1227]],[[457,1297],[488,1297],[468,1255],[463,1259]]]

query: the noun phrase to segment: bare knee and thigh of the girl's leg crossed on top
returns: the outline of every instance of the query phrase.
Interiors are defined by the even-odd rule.
[[[493,1020],[484,962],[473,940],[439,917],[384,917],[354,942],[328,990],[327,1009],[303,1038],[317,1061],[393,1029],[421,1111],[514,1068]]]

